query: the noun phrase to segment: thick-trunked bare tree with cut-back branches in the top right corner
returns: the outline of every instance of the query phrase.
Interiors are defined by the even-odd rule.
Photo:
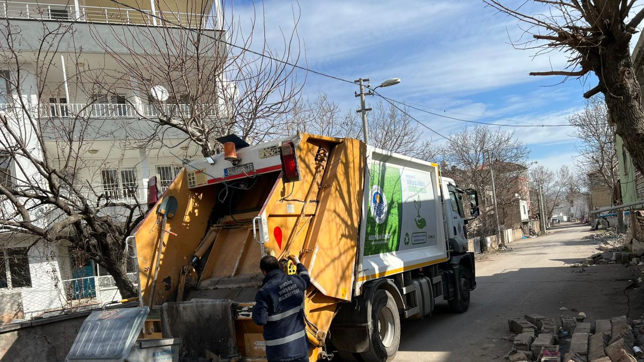
[[[564,75],[579,78],[594,73],[599,84],[585,92],[590,98],[603,93],[609,122],[624,140],[636,168],[644,173],[644,110],[636,73],[644,55],[632,61],[630,39],[644,19],[644,8],[634,11],[636,0],[533,0],[543,5],[542,14],[526,14],[502,0],[483,0],[498,12],[515,17],[533,39],[514,42],[520,49],[544,54],[559,50],[568,54],[564,70],[536,71],[530,75]],[[641,52],[640,52],[641,53]]]

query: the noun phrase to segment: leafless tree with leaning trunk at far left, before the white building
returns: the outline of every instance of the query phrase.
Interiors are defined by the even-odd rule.
[[[0,64],[5,71],[4,102],[0,112],[0,153],[15,165],[0,171],[0,232],[28,235],[35,243],[66,245],[104,267],[121,295],[137,295],[127,276],[126,237],[142,220],[145,210],[137,200],[136,184],[113,190],[96,189],[91,179],[81,179],[89,164],[81,155],[93,140],[110,137],[91,119],[97,104],[71,108],[65,102],[46,104],[59,94],[66,81],[51,82],[62,73],[61,53],[80,62],[73,46],[73,23],[38,23],[42,33],[25,37],[21,28],[6,19],[0,24]],[[30,39],[37,39],[34,43]],[[82,69],[72,66],[72,73]],[[70,81],[70,83],[72,83]],[[94,84],[73,82],[91,93]],[[110,108],[100,108],[108,112]],[[122,202],[126,193],[135,202]]]

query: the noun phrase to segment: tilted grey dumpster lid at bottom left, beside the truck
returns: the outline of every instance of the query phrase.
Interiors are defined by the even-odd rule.
[[[147,307],[92,312],[82,323],[66,361],[124,361],[148,312]]]

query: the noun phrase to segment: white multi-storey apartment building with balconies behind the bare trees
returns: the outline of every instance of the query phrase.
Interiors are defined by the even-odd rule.
[[[216,1],[198,3],[201,8],[209,9],[205,15],[195,12],[200,6],[194,6],[194,2],[122,0],[120,3],[143,11],[118,6],[109,0],[1,3],[0,23],[3,24],[0,28],[17,30],[19,35],[11,43],[6,41],[6,36],[0,39],[0,52],[17,52],[20,61],[13,64],[0,61],[0,111],[14,117],[20,127],[24,107],[17,104],[29,105],[28,110],[39,120],[44,138],[43,149],[37,137],[26,137],[31,142],[32,155],[43,157],[46,153],[62,165],[66,162],[64,148],[77,145],[75,162],[81,166],[73,177],[86,185],[88,195],[103,193],[120,202],[138,200],[146,204],[148,178],[158,175],[160,186],[167,187],[182,167],[182,160],[200,154],[200,149],[187,142],[182,133],[167,129],[163,129],[162,140],[139,142],[147,133],[159,131],[153,129],[146,117],[189,113],[191,108],[175,100],[167,104],[167,109],[160,110],[159,106],[149,103],[149,90],[137,88],[131,84],[132,79],[118,79],[105,92],[104,84],[100,89],[84,84],[82,73],[118,72],[122,65],[106,56],[104,48],[108,44],[111,52],[122,52],[123,59],[128,59],[132,50],[123,46],[128,39],[119,39],[120,30],[126,37],[139,30],[150,32],[151,28],[172,32],[178,29],[177,24],[203,29],[207,22],[204,31],[222,35],[215,26],[220,23],[221,10]],[[199,19],[199,23],[194,19]],[[38,61],[43,57],[41,40],[44,33],[60,28],[61,24],[71,31],[61,36],[59,43],[44,47],[55,52],[45,72]],[[104,44],[99,44],[97,36]],[[15,90],[8,79],[19,79],[21,90]],[[222,117],[221,113],[216,117]],[[59,127],[72,120],[78,124],[71,132]],[[29,133],[28,125],[23,126],[23,131]],[[75,137],[82,138],[82,142]],[[14,182],[7,174],[17,178],[37,175],[29,162],[3,155],[0,150],[3,184],[10,186]],[[119,211],[111,212],[118,214]],[[51,219],[40,222],[52,222]],[[128,275],[136,282],[137,263],[131,260],[128,265]],[[72,248],[35,242],[29,236],[16,233],[0,234],[0,324],[34,318],[52,310],[100,305],[119,299],[113,278],[102,267],[79,258]]]

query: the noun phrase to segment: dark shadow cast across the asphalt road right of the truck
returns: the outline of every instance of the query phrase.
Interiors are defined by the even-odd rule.
[[[429,318],[403,321],[400,356],[395,361],[502,359],[511,348],[511,343],[502,339],[510,333],[508,318],[537,313],[558,319],[574,316],[578,313],[574,309],[585,312],[587,321],[594,321],[628,311],[624,289],[631,272],[623,265],[596,265],[582,272],[571,267],[503,267],[493,275],[477,278],[468,312],[454,314],[441,303]],[[633,310],[631,314],[635,315]],[[416,352],[430,353],[421,356]]]

